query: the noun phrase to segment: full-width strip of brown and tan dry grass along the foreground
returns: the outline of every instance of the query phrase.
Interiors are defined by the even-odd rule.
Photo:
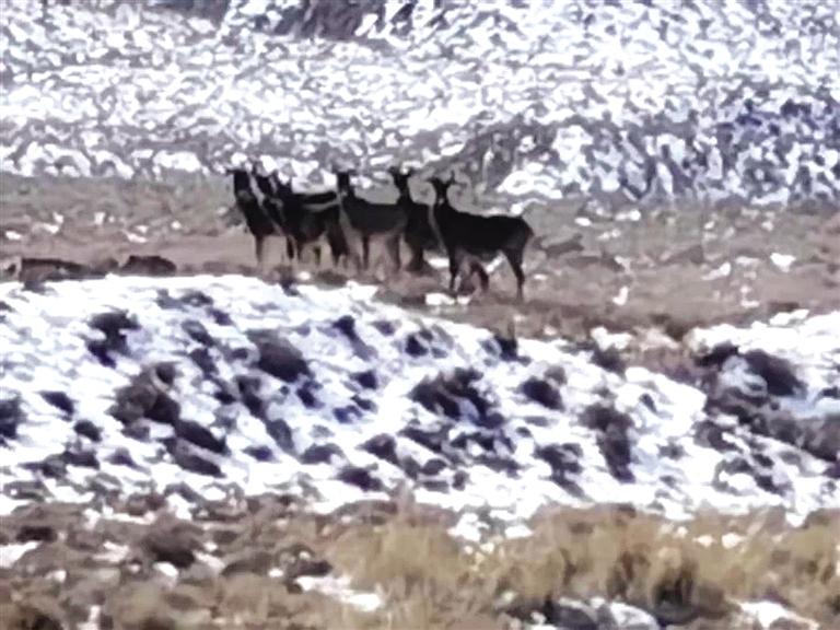
[[[126,630],[203,628],[373,628],[475,630],[510,628],[547,600],[602,596],[691,628],[738,629],[743,600],[777,600],[824,623],[840,622],[840,512],[815,514],[801,527],[778,511],[748,516],[702,513],[674,523],[626,508],[556,509],[533,520],[532,535],[491,536],[479,545],[448,533],[453,515],[402,501],[317,516],[266,501],[190,524],[221,565],[267,553],[271,565],[219,573],[206,560],[163,579],[136,562],[140,540],[160,530],[101,521],[91,530],[57,506],[58,539],[0,571],[0,628],[71,627],[92,605]],[[32,520],[49,523],[50,510]],[[4,520],[12,538],[30,517]],[[93,536],[93,538],[91,538]],[[97,537],[98,536],[98,537]],[[86,542],[84,542],[86,540]],[[104,540],[133,549],[103,562]],[[88,548],[85,549],[85,545]],[[303,592],[283,553],[305,549],[329,575],[383,606],[363,611],[317,590]],[[49,575],[67,571],[63,582]],[[51,621],[61,626],[50,626]],[[39,625],[40,623],[40,625]]]

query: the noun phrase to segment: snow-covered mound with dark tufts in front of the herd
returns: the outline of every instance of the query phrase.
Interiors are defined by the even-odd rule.
[[[2,511],[37,497],[156,490],[177,506],[194,491],[280,488],[323,508],[410,489],[503,521],[549,503],[675,517],[779,505],[794,521],[840,506],[838,314],[781,337],[697,331],[707,397],[374,293],[235,276],[4,284]],[[793,429],[724,407],[738,378],[755,413],[782,408]],[[814,447],[800,421],[835,431]]]

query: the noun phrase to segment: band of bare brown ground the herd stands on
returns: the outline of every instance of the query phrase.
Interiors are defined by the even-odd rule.
[[[129,256],[161,256],[178,273],[255,273],[253,242],[230,210],[229,182],[23,178],[2,175],[0,248],[7,276],[21,257],[102,266]],[[457,198],[456,198],[457,203]],[[532,207],[537,237],[526,253],[526,302],[517,304],[506,264],[490,292],[468,304],[430,306],[445,292],[445,261],[435,275],[392,278],[381,295],[407,307],[529,337],[585,339],[610,330],[662,328],[679,338],[698,325],[745,323],[779,311],[840,307],[840,209],[784,212],[698,205],[606,215],[581,203]],[[630,209],[632,210],[632,209]],[[637,220],[633,220],[637,219]],[[288,276],[280,240],[271,240],[275,277]],[[44,267],[23,266],[25,277]],[[304,267],[324,282],[361,281],[345,269]]]

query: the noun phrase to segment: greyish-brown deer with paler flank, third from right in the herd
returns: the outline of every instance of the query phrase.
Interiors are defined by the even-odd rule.
[[[350,245],[350,252],[360,269],[370,266],[371,242],[381,242],[390,258],[392,267],[399,271],[399,242],[408,224],[408,213],[405,208],[393,203],[374,203],[358,197],[355,187],[350,183],[350,171],[336,171],[336,183],[340,208],[341,229]],[[358,247],[361,243],[362,256]]]

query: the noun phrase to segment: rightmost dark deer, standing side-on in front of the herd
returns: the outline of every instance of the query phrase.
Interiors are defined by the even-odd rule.
[[[499,254],[508,261],[516,276],[516,298],[525,300],[525,272],[522,261],[525,247],[534,236],[524,219],[504,214],[480,215],[462,212],[452,207],[448,189],[455,183],[455,173],[447,180],[431,177],[435,199],[430,212],[432,228],[438,232],[450,259],[450,292],[455,291],[455,280],[465,260],[469,261],[470,273],[478,273],[481,289],[487,291],[490,278],[482,261],[490,261]]]

